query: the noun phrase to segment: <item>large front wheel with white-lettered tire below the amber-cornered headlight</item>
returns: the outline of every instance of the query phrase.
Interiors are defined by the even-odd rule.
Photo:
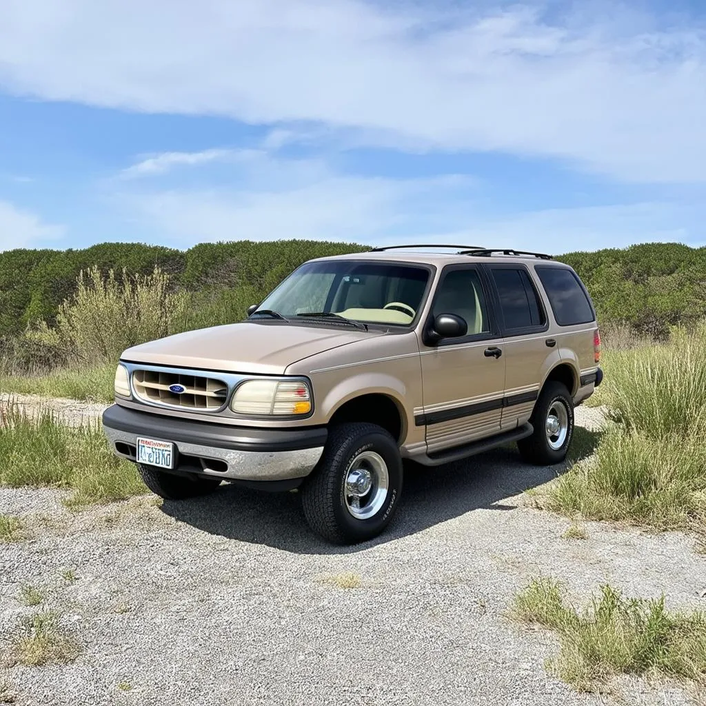
[[[355,422],[335,427],[301,492],[309,527],[335,544],[356,544],[380,534],[402,495],[402,459],[381,426]]]

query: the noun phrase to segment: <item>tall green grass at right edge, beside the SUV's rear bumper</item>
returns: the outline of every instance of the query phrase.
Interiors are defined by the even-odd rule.
[[[706,532],[706,326],[611,352],[602,399],[612,423],[594,457],[551,491],[568,515]]]

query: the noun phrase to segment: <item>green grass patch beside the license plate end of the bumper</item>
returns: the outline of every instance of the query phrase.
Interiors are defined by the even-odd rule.
[[[97,424],[72,428],[49,412],[0,408],[0,484],[71,489],[69,507],[146,493],[136,467],[115,457]]]

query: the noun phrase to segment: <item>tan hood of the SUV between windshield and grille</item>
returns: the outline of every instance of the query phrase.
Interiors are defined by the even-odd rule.
[[[287,366],[311,355],[381,335],[385,333],[347,327],[242,321],[133,346],[121,355],[121,360],[282,375]]]

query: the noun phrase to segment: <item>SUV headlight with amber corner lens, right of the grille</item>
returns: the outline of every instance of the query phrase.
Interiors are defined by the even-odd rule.
[[[235,391],[230,408],[238,414],[309,414],[311,392],[299,380],[251,380]]]

